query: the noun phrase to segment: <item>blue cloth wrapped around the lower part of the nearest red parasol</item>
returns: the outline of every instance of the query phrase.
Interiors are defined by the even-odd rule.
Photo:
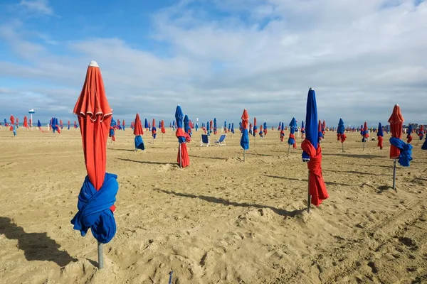
[[[90,228],[93,236],[102,244],[107,244],[115,236],[116,224],[110,207],[115,202],[119,190],[117,175],[105,173],[100,190],[95,190],[88,176],[78,195],[78,212],[71,220],[73,229],[85,236]]]

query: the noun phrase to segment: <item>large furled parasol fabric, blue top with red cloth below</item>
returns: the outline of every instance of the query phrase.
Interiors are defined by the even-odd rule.
[[[302,160],[308,162],[311,203],[319,206],[329,195],[322,176],[322,149],[318,143],[316,94],[311,88],[307,96],[305,123],[306,138],[301,144]]]

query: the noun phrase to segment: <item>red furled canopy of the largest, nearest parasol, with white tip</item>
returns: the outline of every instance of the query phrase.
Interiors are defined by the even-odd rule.
[[[85,84],[73,113],[78,116],[88,178],[95,190],[100,190],[107,165],[107,137],[112,109],[105,96],[100,67],[95,61],[89,64]],[[112,205],[110,209],[114,212],[115,206]]]

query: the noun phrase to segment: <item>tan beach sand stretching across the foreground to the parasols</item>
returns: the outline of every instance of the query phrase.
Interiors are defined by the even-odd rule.
[[[427,283],[427,151],[397,168],[376,141],[349,133],[322,143],[330,198],[307,214],[307,165],[278,131],[242,162],[227,146],[189,144],[179,169],[170,129],[133,151],[131,129],[107,148],[118,175],[117,234],[98,270],[93,236],[70,220],[85,178],[79,131],[0,131],[0,283]],[[288,132],[287,132],[288,135]],[[218,138],[218,136],[217,136]],[[300,142],[300,139],[298,139]],[[298,145],[299,147],[299,145]]]

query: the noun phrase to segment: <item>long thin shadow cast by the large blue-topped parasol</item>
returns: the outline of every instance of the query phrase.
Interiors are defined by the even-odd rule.
[[[294,211],[288,211],[285,209],[278,209],[275,207],[271,207],[268,205],[260,205],[260,204],[253,204],[253,203],[239,203],[239,202],[233,202],[229,200],[224,200],[223,198],[213,197],[213,196],[206,196],[206,195],[191,195],[189,193],[183,193],[183,192],[174,192],[169,190],[161,190],[159,188],[156,188],[158,192],[166,193],[167,195],[174,195],[179,197],[189,197],[189,198],[199,198],[201,200],[205,200],[207,202],[217,203],[217,204],[223,204],[227,206],[234,206],[234,207],[255,207],[255,208],[268,208],[273,210],[276,214],[279,214],[280,216],[286,216],[286,217],[295,217],[298,214],[301,214],[302,212],[306,211],[307,208],[304,209],[297,209]]]

